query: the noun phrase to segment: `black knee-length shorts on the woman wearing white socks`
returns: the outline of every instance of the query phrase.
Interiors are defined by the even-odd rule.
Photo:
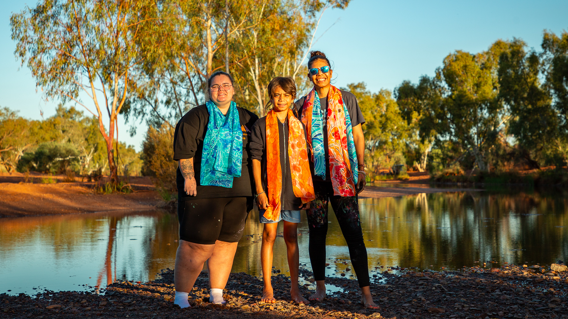
[[[178,202],[179,239],[213,245],[237,242],[247,220],[246,197],[206,198]]]

